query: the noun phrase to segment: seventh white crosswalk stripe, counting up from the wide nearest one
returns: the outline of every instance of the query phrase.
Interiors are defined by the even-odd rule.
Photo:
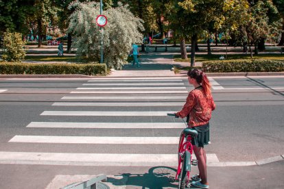
[[[73,94],[178,94],[178,93],[188,93],[186,90],[132,90],[132,91],[121,91],[121,90],[112,90],[112,91],[72,91]]]

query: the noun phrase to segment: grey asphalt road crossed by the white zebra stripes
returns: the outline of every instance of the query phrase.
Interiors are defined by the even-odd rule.
[[[182,108],[187,91],[192,89],[187,79],[108,79],[0,80],[0,152],[10,158],[2,158],[0,161],[0,188],[45,188],[56,175],[99,173],[127,176],[128,188],[176,186],[169,184],[165,178],[152,177],[149,170],[160,164],[155,161],[148,164],[147,157],[143,156],[137,162],[117,162],[123,161],[123,155],[176,153],[177,144],[172,141],[178,138],[183,123],[180,119],[164,114]],[[211,144],[206,147],[206,153],[213,155],[211,165],[216,163],[214,157],[217,157],[217,163],[241,164],[283,155],[284,77],[212,77],[211,82],[217,105],[211,119]],[[72,116],[66,114],[70,112]],[[67,123],[72,123],[73,126],[62,127]],[[108,127],[89,124],[89,128],[86,128],[86,123],[107,123]],[[115,123],[121,125],[116,126]],[[141,126],[141,123],[144,125]],[[158,124],[151,126],[152,123]],[[167,127],[171,125],[169,123],[177,126]],[[155,128],[156,126],[161,128]],[[103,142],[98,142],[102,136]],[[158,142],[145,142],[143,138],[153,141],[158,138]],[[164,143],[159,143],[162,141],[160,138]],[[110,164],[110,160],[102,160],[101,166],[99,163],[96,166],[87,166],[84,160],[80,162],[77,159],[75,162],[78,164],[70,164],[64,160],[44,161],[40,157],[36,160],[29,159],[32,158],[30,153],[37,153],[38,156],[44,156],[45,153],[116,154],[117,162],[114,166],[115,163]],[[27,159],[19,159],[20,156]],[[210,161],[211,159],[209,163]],[[241,171],[241,168],[246,171]],[[251,184],[248,188],[284,186],[277,176],[283,173],[283,161],[241,168],[209,166],[209,183],[212,183],[211,186],[224,188],[226,185],[217,181],[220,177],[213,178],[227,172],[233,176],[237,174],[236,170],[241,177],[255,175],[255,181],[261,181],[263,172],[270,169],[274,173],[273,179],[270,179],[272,184],[265,179],[261,186]],[[230,188],[248,186],[244,185],[246,182],[237,185],[233,179],[227,179],[225,183]]]

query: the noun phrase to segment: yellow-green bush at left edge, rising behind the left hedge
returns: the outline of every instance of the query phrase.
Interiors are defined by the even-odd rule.
[[[5,32],[2,59],[7,62],[21,62],[25,58],[23,45],[25,45],[25,42],[20,33]]]

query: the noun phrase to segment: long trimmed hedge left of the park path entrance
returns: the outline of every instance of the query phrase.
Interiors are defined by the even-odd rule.
[[[33,64],[1,62],[0,74],[7,75],[106,75],[106,64]]]

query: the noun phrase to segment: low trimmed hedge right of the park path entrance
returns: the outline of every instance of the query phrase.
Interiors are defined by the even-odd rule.
[[[212,60],[202,62],[202,68],[206,73],[281,72],[284,60]]]

